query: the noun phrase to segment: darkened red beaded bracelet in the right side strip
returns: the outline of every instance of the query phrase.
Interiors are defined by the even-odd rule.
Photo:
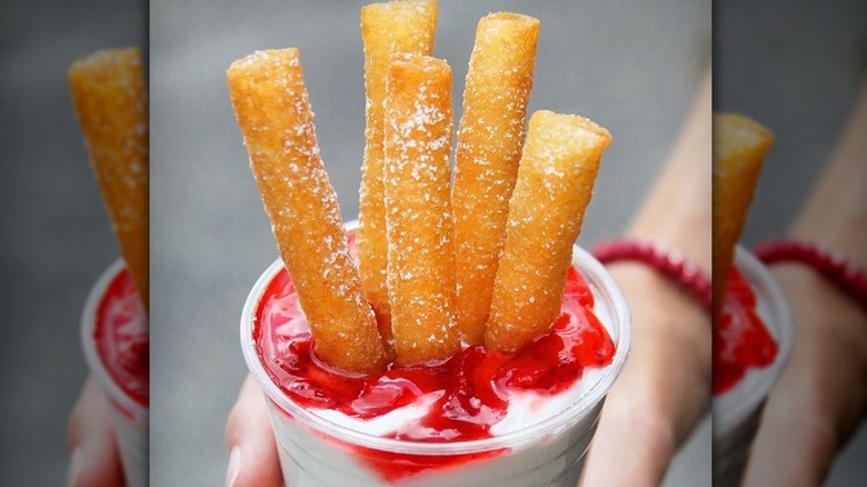
[[[867,311],[867,272],[846,259],[834,256],[814,244],[776,240],[756,248],[756,257],[766,265],[797,262],[811,267],[858,306]]]

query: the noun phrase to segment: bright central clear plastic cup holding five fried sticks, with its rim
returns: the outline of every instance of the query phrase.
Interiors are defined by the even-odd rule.
[[[347,223],[349,231],[356,228],[355,222]],[[584,396],[554,417],[492,438],[432,444],[382,438],[337,425],[293,402],[271,380],[256,351],[253,318],[263,290],[282,268],[282,261],[277,259],[247,298],[241,316],[241,349],[250,372],[266,395],[286,484],[293,487],[574,487],[605,397],[626,362],[630,318],[625,298],[599,261],[576,246],[572,264],[590,286],[596,298],[594,310],[616,346],[611,364],[596,375],[596,382]],[[496,454],[502,449],[508,450]],[[458,456],[459,465],[441,467]],[[412,465],[418,471],[390,483],[373,467],[388,463]]]

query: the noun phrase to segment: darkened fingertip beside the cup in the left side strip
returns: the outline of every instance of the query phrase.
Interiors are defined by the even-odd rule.
[[[114,431],[109,423],[110,408],[102,389],[93,377],[88,377],[67,425],[68,485],[124,485]]]

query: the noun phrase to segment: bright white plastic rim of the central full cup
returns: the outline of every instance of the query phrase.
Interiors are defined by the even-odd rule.
[[[357,228],[358,220],[345,223],[347,232]],[[601,375],[585,395],[564,409],[564,411],[571,411],[570,414],[558,414],[542,421],[497,437],[452,441],[449,444],[383,438],[322,418],[289,399],[266,371],[256,351],[256,341],[252,337],[255,315],[260,297],[275,275],[283,268],[282,260],[279,257],[259,276],[247,297],[240,322],[241,350],[250,374],[262,388],[268,399],[277,407],[289,413],[293,418],[301,420],[306,427],[312,427],[329,437],[378,450],[415,455],[460,455],[514,447],[540,436],[560,431],[566,426],[578,423],[580,418],[584,418],[604,400],[629,356],[631,320],[626,298],[622,296],[620,288],[605,267],[578,246],[572,246],[572,265],[579,269],[581,276],[588,281],[591,289],[595,290],[596,306],[602,300],[606,301],[605,306],[608,308],[612,321],[610,328],[606,326],[606,329],[611,335],[616,346],[611,364],[606,366],[607,374]]]

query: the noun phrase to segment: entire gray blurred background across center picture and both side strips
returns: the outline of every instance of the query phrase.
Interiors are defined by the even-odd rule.
[[[246,374],[238,318],[277,257],[225,70],[256,49],[301,49],[326,167],[345,218],[355,218],[361,3],[150,2],[155,486],[223,481],[222,428]],[[530,110],[581,113],[612,132],[585,247],[625,229],[710,58],[710,1],[649,3],[440,2],[435,54],[452,66],[456,118],[477,20],[515,10],[542,22]],[[750,245],[780,235],[796,215],[867,64],[867,2],[791,3],[720,0],[712,10],[717,108],[750,115],[777,135],[747,222]],[[87,374],[80,310],[118,255],[66,69],[99,48],[146,46],[146,13],[140,1],[0,8],[0,485],[62,485],[66,415]],[[830,485],[867,476],[865,429]],[[666,484],[708,485],[709,444],[706,421]]]

